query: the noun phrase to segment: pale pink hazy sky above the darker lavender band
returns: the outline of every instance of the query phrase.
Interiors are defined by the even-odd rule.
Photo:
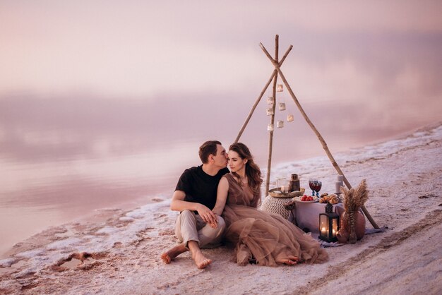
[[[352,93],[379,83],[375,75],[416,84],[431,77],[396,55],[413,52],[405,42],[440,49],[441,13],[441,1],[2,0],[0,93],[256,93],[271,70],[258,43],[273,51],[275,34],[282,52],[294,45],[284,68],[309,95],[336,95],[330,88],[348,76]]]

